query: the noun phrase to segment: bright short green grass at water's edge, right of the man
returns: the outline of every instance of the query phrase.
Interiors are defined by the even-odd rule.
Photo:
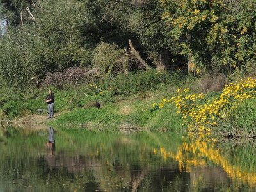
[[[130,98],[131,99],[131,98]],[[122,100],[107,103],[102,108],[77,108],[52,120],[51,125],[87,127],[95,130],[115,130],[130,126],[136,129],[172,131],[182,129],[182,119],[174,106],[151,111],[152,99]]]

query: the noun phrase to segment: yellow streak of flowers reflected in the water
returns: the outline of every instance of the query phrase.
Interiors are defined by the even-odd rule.
[[[157,154],[157,150],[154,148],[154,154]],[[193,159],[191,159],[191,153]],[[163,157],[164,161],[167,158],[175,159],[179,163],[179,170],[186,170],[191,172],[193,167],[205,167],[207,161],[212,161],[214,164],[220,165],[229,177],[236,180],[241,180],[244,184],[255,186],[256,184],[256,172],[245,172],[240,167],[232,166],[228,159],[222,157],[219,150],[214,148],[214,143],[205,140],[195,140],[192,143],[182,143],[177,148],[177,152],[168,152],[164,147],[160,147],[159,154]]]

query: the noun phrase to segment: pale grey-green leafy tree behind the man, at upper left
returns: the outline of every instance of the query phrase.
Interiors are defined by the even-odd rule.
[[[83,8],[83,4],[75,0],[66,3],[43,1],[40,6],[32,6],[31,13],[35,20],[32,23],[24,20],[20,28],[8,26],[8,32],[0,39],[4,48],[1,51],[1,67],[15,66],[22,76],[28,76],[27,79],[34,77],[42,80],[47,72],[88,65],[90,51],[82,41],[83,24],[86,22]],[[19,86],[11,77],[6,78],[12,86]]]

